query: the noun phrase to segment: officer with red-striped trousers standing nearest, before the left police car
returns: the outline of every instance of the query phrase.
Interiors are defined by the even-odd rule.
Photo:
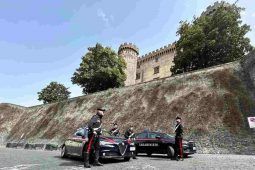
[[[99,136],[101,135],[101,124],[102,117],[104,116],[105,109],[98,108],[97,114],[95,114],[88,123],[88,142],[84,151],[84,167],[90,168],[89,156],[91,156],[91,151],[94,151],[94,166],[103,166],[99,159],[100,141]]]

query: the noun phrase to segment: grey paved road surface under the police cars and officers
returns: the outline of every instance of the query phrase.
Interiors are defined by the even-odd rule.
[[[78,170],[84,169],[80,159],[62,159],[58,151],[0,148],[0,170]],[[138,156],[129,162],[105,161],[103,167],[91,169],[109,170],[161,170],[161,169],[255,169],[255,156],[195,154],[184,161],[169,160],[164,155]]]

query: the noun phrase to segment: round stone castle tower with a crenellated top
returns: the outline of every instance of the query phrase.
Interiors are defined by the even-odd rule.
[[[124,43],[120,45],[118,54],[122,56],[127,63],[127,68],[125,70],[125,73],[127,75],[125,86],[135,84],[139,49],[132,43]]]

